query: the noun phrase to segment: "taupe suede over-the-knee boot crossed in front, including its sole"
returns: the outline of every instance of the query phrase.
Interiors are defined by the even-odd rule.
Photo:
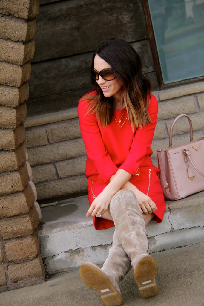
[[[147,254],[145,222],[135,194],[126,189],[117,192],[110,202],[110,213],[124,251],[131,259],[140,294],[143,297],[156,295],[157,265]]]

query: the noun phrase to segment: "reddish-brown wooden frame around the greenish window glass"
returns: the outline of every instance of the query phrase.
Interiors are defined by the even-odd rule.
[[[161,72],[161,66],[160,66],[160,62],[159,62],[159,55],[158,55],[157,46],[156,46],[156,40],[155,40],[155,36],[154,36],[154,29],[153,29],[151,15],[150,15],[149,3],[148,3],[148,0],[142,0],[142,3],[143,3],[146,22],[147,22],[147,30],[148,30],[149,38],[150,38],[150,46],[151,46],[151,49],[152,49],[152,56],[153,56],[153,60],[154,60],[156,75],[157,75],[157,79],[158,79],[160,89],[167,89],[167,88],[175,87],[175,86],[182,85],[182,84],[189,84],[189,83],[195,83],[195,82],[203,81],[204,76],[198,76],[198,77],[195,77],[195,78],[180,80],[180,81],[176,81],[176,82],[172,82],[172,83],[168,83],[168,84],[164,83],[162,72]]]

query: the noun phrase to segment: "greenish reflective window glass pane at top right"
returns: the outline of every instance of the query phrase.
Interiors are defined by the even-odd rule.
[[[148,0],[164,83],[204,75],[204,0]]]

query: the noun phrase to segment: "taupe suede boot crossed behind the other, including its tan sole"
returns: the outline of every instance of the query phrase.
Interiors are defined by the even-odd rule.
[[[113,235],[113,245],[102,269],[93,263],[83,263],[79,269],[83,282],[97,291],[107,306],[122,304],[119,282],[131,268],[131,261],[125,253],[118,238],[117,231]]]

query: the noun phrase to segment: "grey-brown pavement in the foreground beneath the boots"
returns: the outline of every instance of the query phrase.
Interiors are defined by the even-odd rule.
[[[152,254],[158,265],[158,294],[143,298],[133,269],[120,283],[124,306],[204,306],[204,243]],[[103,306],[78,270],[56,274],[45,283],[0,293],[0,306]]]

